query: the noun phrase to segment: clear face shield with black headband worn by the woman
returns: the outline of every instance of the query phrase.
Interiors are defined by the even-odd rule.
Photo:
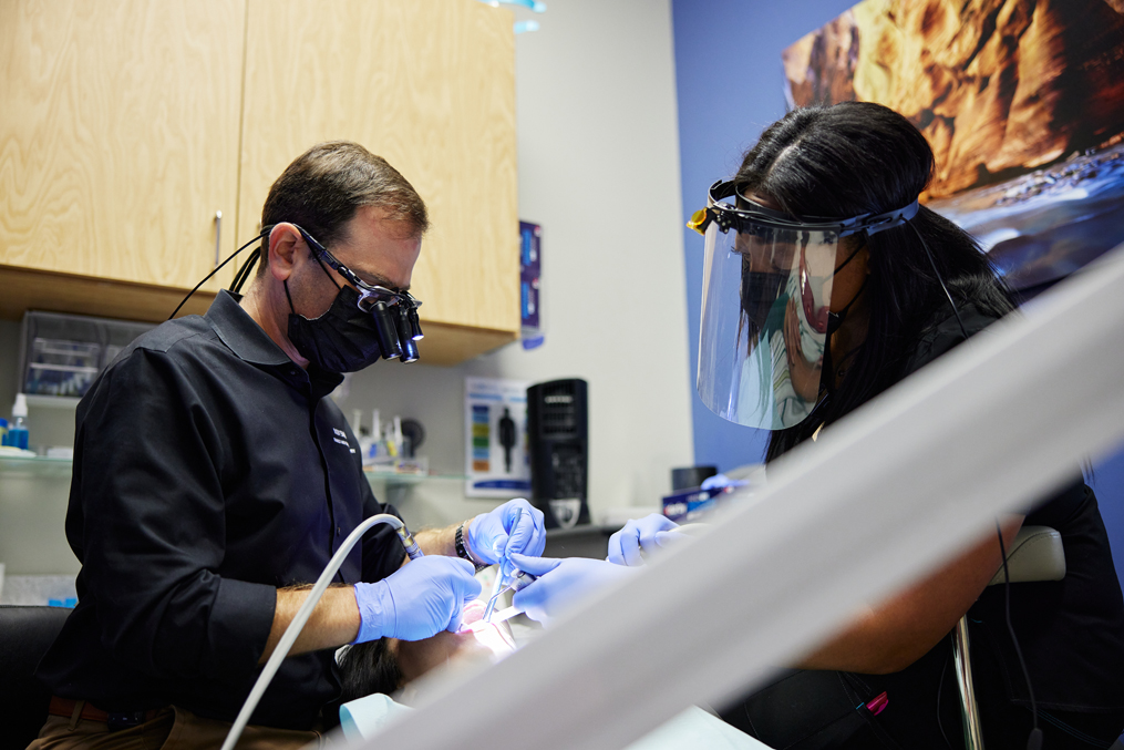
[[[698,391],[725,419],[783,430],[819,399],[841,237],[900,226],[905,208],[847,219],[797,218],[716,182],[688,224],[706,237]],[[737,206],[722,202],[736,197]]]

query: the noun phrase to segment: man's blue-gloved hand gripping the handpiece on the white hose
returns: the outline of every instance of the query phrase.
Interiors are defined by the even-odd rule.
[[[359,635],[420,641],[443,630],[456,632],[464,605],[480,596],[475,568],[468,560],[436,554],[410,560],[374,584],[355,584]]]

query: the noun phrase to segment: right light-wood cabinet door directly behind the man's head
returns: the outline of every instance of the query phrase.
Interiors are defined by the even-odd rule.
[[[511,15],[477,0],[250,0],[247,18],[239,240],[257,232],[269,188],[294,157],[321,141],[359,142],[429,207],[413,282],[424,360],[452,362],[513,340]],[[489,332],[490,344],[470,341]],[[442,337],[460,351],[427,356]]]

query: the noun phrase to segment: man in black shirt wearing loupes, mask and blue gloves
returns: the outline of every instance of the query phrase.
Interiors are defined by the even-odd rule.
[[[425,204],[384,160],[333,142],[273,183],[262,226],[244,297],[223,291],[206,316],[133,342],[79,405],[66,517],[79,603],[37,672],[54,698],[31,748],[218,747],[337,545],[397,515],[326,397],[404,343],[373,313],[399,310],[399,334],[417,325]],[[541,553],[545,532],[513,500],[416,539],[426,557],[408,564],[388,526],[356,545],[247,743],[315,742],[336,723],[336,648],[455,630],[473,573]]]

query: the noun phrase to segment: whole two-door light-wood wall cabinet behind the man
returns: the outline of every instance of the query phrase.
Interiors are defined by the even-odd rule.
[[[9,0],[0,55],[0,316],[163,319],[214,268],[216,211],[225,257],[256,234],[293,157],[347,138],[429,206],[414,274],[424,361],[517,336],[509,12],[475,0]]]

